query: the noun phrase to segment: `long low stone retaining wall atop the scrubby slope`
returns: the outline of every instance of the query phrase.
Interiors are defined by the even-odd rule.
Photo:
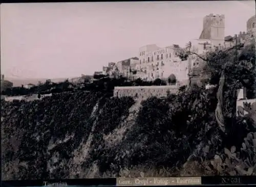
[[[114,97],[131,96],[135,100],[145,100],[152,96],[165,97],[167,96],[168,91],[170,94],[177,94],[178,90],[178,85],[115,87]]]

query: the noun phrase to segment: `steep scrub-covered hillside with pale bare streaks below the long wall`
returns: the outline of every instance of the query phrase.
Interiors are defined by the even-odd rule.
[[[238,123],[236,138],[218,143],[215,93],[194,88],[142,102],[100,92],[2,101],[3,179],[215,175],[187,159],[241,147],[248,133]],[[206,156],[198,145],[208,141]]]

